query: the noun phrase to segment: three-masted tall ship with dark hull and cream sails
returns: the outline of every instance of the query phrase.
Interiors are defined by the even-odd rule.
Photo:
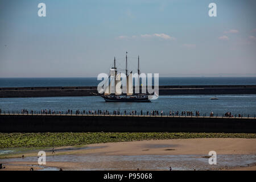
[[[133,89],[133,74],[128,73],[127,69],[127,52],[126,52],[126,93],[122,93],[122,90],[117,90],[116,88],[121,88],[121,73],[117,72],[117,67],[114,58],[114,67],[110,69],[110,83],[106,88],[104,88],[103,94],[93,93],[94,95],[101,96],[106,102],[151,102],[149,99],[150,94],[134,94]],[[139,70],[139,56],[138,56],[138,75]],[[114,85],[115,92],[111,93],[110,88]],[[138,77],[139,85],[139,77]]]

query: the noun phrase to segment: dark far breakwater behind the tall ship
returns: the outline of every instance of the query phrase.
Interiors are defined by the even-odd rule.
[[[96,86],[0,88],[0,98],[92,96],[92,93],[97,93]],[[256,94],[256,85],[166,85],[159,86],[159,94]]]

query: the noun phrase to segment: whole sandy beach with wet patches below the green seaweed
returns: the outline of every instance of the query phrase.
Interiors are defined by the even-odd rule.
[[[68,148],[56,147],[55,155],[48,151],[46,166],[55,167],[53,170],[135,170],[138,166],[140,170],[168,170],[171,163],[177,170],[256,170],[256,139],[146,140]],[[203,158],[209,151],[217,152],[219,165],[209,166],[208,158]],[[38,165],[37,152],[27,152],[24,159],[0,159],[6,166],[1,170],[29,170],[31,166],[27,165]]]

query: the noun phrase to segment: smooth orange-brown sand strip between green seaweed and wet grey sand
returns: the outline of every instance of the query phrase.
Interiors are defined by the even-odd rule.
[[[104,155],[208,155],[209,151],[216,151],[217,154],[256,154],[256,139],[244,138],[146,140],[89,146],[103,148],[88,150],[87,154]],[[83,152],[80,150],[76,154]]]

